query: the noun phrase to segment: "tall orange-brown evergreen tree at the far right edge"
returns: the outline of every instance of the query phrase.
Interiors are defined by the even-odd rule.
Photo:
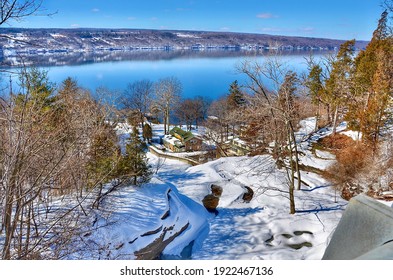
[[[374,148],[389,116],[393,88],[393,40],[387,21],[384,11],[370,44],[355,60],[355,98],[347,114],[352,127],[362,132],[363,141]]]

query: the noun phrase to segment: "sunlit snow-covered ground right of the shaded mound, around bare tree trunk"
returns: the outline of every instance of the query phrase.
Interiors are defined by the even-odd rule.
[[[198,203],[212,183],[223,187],[218,215],[211,214],[209,235],[193,259],[321,259],[346,206],[341,199],[335,202],[328,182],[303,173],[309,186],[296,191],[298,212],[290,215],[285,174],[268,156],[223,158],[195,167],[168,161],[158,176]],[[255,192],[250,203],[242,200],[244,186]]]

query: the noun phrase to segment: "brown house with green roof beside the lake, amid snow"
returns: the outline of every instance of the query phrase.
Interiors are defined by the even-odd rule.
[[[190,131],[175,127],[169,133],[170,135],[165,135],[162,141],[164,146],[173,152],[193,152],[202,148],[202,139]]]

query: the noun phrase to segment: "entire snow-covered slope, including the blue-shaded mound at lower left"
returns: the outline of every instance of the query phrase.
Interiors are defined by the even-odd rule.
[[[314,126],[313,119],[305,120],[297,133],[301,161],[325,169],[334,161],[333,155],[312,151],[311,143],[329,131],[307,138]],[[156,127],[155,137],[161,134],[157,129],[161,127]],[[119,131],[125,134],[129,129]],[[268,155],[221,158],[194,167],[150,153],[148,158],[155,172],[152,181],[141,188],[129,187],[114,193],[105,200],[101,207],[104,210],[97,212],[99,230],[88,240],[95,240],[102,252],[91,258],[136,258],[133,252],[162,234],[157,229],[176,224],[166,234],[167,239],[189,223],[166,247],[167,257],[180,257],[195,240],[192,259],[321,259],[347,205],[325,179],[302,172],[304,184],[295,192],[297,212],[289,214],[286,173],[278,170]],[[217,215],[202,206],[212,184],[223,188]],[[246,186],[254,191],[249,203],[242,199]],[[169,208],[171,217],[163,220]],[[182,257],[190,258],[184,254]]]

